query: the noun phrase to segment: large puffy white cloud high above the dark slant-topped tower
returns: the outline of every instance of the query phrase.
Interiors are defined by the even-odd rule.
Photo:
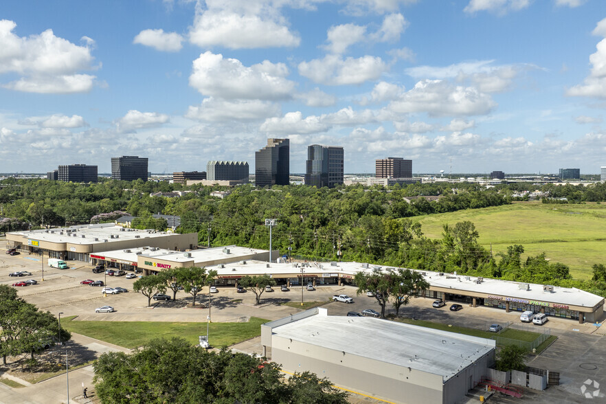
[[[190,86],[216,98],[280,100],[291,98],[295,87],[288,74],[283,63],[265,60],[246,67],[238,59],[205,52],[194,60]]]

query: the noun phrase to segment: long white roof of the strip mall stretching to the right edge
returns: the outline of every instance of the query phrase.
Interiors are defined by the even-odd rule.
[[[335,262],[336,265],[331,265],[330,262],[310,262],[308,266],[302,268],[302,263],[276,263],[276,262],[260,262],[250,260],[246,264],[242,262],[234,262],[232,264],[225,264],[223,268],[221,265],[210,267],[215,269],[218,276],[244,276],[244,275],[262,275],[264,273],[271,273],[276,276],[284,274],[295,274],[301,273],[303,269],[304,274],[315,274],[319,277],[333,277],[333,276],[350,276],[353,277],[357,272],[360,271],[373,271],[376,269],[385,270],[388,266],[381,265],[368,265],[360,262]],[[269,265],[269,267],[268,267]],[[298,265],[295,267],[295,265]],[[395,268],[394,268],[395,269]],[[512,282],[508,280],[498,280],[483,278],[483,281],[478,283],[477,276],[465,276],[444,273],[440,276],[438,272],[432,271],[421,271],[416,270],[420,273],[425,273],[425,280],[429,282],[431,287],[442,287],[444,289],[452,289],[453,294],[459,294],[458,291],[469,292],[469,293],[484,293],[487,295],[502,296],[506,298],[515,298],[520,300],[537,301],[537,302],[550,302],[555,304],[564,304],[569,306],[585,306],[594,307],[597,304],[601,304],[604,298],[593,293],[581,291],[576,288],[564,288],[554,287],[552,292],[543,291],[542,284],[528,284],[528,290],[520,289],[523,282]]]

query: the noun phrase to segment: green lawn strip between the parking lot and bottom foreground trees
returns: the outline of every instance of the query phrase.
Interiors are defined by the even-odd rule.
[[[66,317],[61,326],[74,333],[123,346],[137,348],[151,339],[179,336],[198,344],[198,336],[206,335],[207,323],[190,322],[80,322]],[[251,317],[245,323],[210,323],[209,343],[213,347],[230,346],[261,334],[261,324],[269,320]]]

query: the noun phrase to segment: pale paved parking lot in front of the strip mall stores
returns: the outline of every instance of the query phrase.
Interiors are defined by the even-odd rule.
[[[12,284],[20,280],[34,279],[36,285],[18,287],[18,293],[27,302],[36,304],[38,308],[48,310],[54,315],[77,315],[77,320],[98,321],[179,321],[204,322],[209,311],[201,309],[201,303],[208,304],[207,289],[197,296],[197,308],[192,308],[192,296],[183,291],[177,293],[177,300],[170,302],[154,302],[147,306],[147,298],[140,293],[133,293],[132,284],[136,279],[126,279],[125,276],[105,276],[104,273],[92,273],[92,267],[84,262],[68,261],[69,269],[49,268],[47,262],[41,262],[39,256],[19,254],[9,256],[0,250],[0,282]],[[47,258],[45,258],[45,261]],[[44,267],[44,281],[42,281]],[[30,271],[32,276],[22,278],[9,277],[14,271]],[[102,287],[90,287],[80,284],[82,280],[103,280],[109,287],[124,287],[128,293],[117,295],[102,294]],[[234,287],[218,287],[218,293],[212,294],[210,315],[213,322],[246,321],[255,316],[265,319],[279,319],[300,311],[299,308],[284,306],[284,302],[328,301],[332,295],[347,294],[354,302],[346,304],[330,302],[329,315],[346,315],[348,311],[361,312],[366,308],[380,311],[380,306],[374,298],[365,294],[356,295],[355,287],[319,286],[315,291],[301,290],[292,287],[290,291],[282,292],[274,288],[273,292],[262,295],[262,301],[256,306],[254,293],[236,293]],[[172,297],[170,289],[167,294]],[[241,302],[240,302],[241,300]],[[579,324],[569,319],[550,318],[544,326],[521,324],[519,312],[505,313],[502,310],[487,307],[472,308],[464,305],[462,310],[452,312],[449,306],[442,308],[431,307],[432,299],[414,298],[407,306],[401,307],[401,315],[431,322],[466,326],[487,330],[490,324],[510,324],[513,328],[526,328],[541,332],[549,330],[559,339],[545,352],[537,357],[530,357],[529,366],[546,368],[561,373],[561,385],[548,388],[546,392],[528,391],[522,401],[552,403],[583,403],[585,397],[581,387],[588,379],[606,386],[606,348],[601,329],[594,324]],[[110,305],[114,313],[95,313],[95,308]],[[388,307],[388,312],[394,312]],[[251,349],[255,349],[254,347]],[[258,350],[257,350],[258,351]],[[605,389],[606,391],[606,389]],[[601,399],[604,394],[601,393]],[[493,396],[491,401],[497,403],[513,402],[506,397]],[[515,400],[517,401],[517,400]]]

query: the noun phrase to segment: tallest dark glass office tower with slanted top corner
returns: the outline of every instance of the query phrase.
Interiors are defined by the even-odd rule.
[[[289,139],[267,139],[267,146],[255,153],[255,185],[289,185]]]

